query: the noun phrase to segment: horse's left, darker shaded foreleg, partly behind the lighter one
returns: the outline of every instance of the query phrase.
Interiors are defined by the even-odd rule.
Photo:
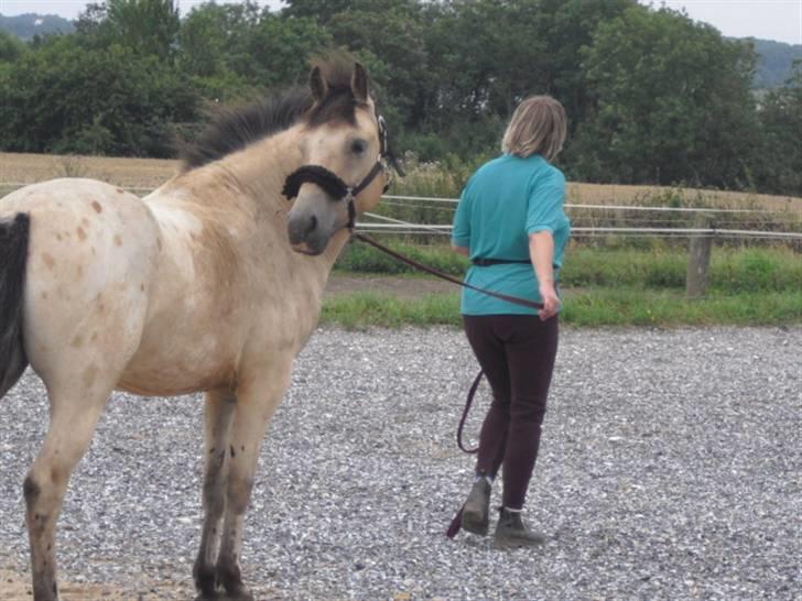
[[[195,559],[193,576],[199,594],[197,600],[217,595],[217,547],[220,540],[220,521],[226,507],[228,477],[228,437],[231,430],[235,396],[229,392],[206,393],[204,527],[201,549]]]

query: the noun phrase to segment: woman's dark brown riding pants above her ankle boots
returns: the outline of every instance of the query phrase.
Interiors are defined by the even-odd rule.
[[[559,320],[530,315],[464,316],[465,334],[492,389],[479,436],[476,471],[502,467],[503,505],[523,507],[540,447]]]

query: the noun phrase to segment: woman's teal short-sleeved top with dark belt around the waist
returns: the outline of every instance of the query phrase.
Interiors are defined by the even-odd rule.
[[[562,267],[571,222],[565,215],[565,176],[539,154],[502,154],[468,181],[454,216],[452,242],[467,247],[470,259],[529,260],[529,234],[554,236],[554,265]],[[557,273],[555,273],[556,277]],[[472,265],[465,282],[542,302],[531,263]],[[537,312],[464,288],[463,315],[535,315]]]

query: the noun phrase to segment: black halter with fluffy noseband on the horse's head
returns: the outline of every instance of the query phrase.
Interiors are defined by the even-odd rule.
[[[390,172],[386,163],[388,157],[387,123],[384,122],[384,118],[378,112],[376,113],[376,120],[379,123],[379,160],[368,175],[356,186],[348,186],[336,173],[322,165],[302,165],[286,176],[281,194],[286,196],[288,200],[292,200],[299,195],[299,190],[303,184],[315,184],[323,188],[333,200],[346,200],[348,203],[348,229],[354,230],[357,218],[357,209],[355,206],[357,195],[367,188],[380,173]],[[382,194],[387,192],[388,187],[389,184],[384,186]]]

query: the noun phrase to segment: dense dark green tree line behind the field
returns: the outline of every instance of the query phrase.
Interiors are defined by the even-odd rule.
[[[550,94],[575,181],[802,196],[802,66],[758,98],[751,43],[637,0],[174,0],[87,4],[68,35],[0,33],[0,149],[171,156],[209,107],[303,85],[332,48],[369,69],[397,150],[498,152]],[[456,157],[456,159],[455,159]]]

